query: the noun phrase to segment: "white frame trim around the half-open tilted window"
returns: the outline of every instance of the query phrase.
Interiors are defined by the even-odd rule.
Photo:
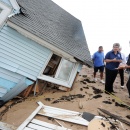
[[[50,76],[46,76],[46,75],[43,75],[42,73],[37,78],[51,82],[51,83],[54,83],[54,84],[58,84],[58,85],[61,85],[61,86],[71,88],[73,81],[75,79],[76,73],[77,73],[78,66],[79,66],[79,63],[74,63],[74,64],[75,65],[74,65],[74,67],[71,71],[70,78],[69,78],[68,81],[63,81],[63,80],[57,79],[56,77],[53,78],[53,77],[50,77]],[[60,67],[61,67],[61,65],[58,66],[58,70],[60,70]],[[56,72],[56,75],[59,73],[58,70]]]

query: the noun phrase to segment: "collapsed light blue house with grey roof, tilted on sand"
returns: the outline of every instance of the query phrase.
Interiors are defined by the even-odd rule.
[[[81,21],[51,0],[0,0],[2,103],[38,79],[71,88],[84,63],[92,65]]]

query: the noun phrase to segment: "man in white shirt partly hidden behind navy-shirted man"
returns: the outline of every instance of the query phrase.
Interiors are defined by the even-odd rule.
[[[121,53],[122,48],[119,48],[119,52]],[[120,65],[125,65],[126,64],[126,57],[123,53],[121,53],[121,58],[122,58],[122,62],[120,63]],[[124,88],[124,69],[119,69],[119,75],[120,75],[120,79],[121,79],[121,88]]]

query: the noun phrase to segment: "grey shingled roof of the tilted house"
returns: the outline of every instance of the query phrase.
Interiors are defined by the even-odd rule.
[[[51,0],[18,0],[18,4],[21,13],[9,21],[91,65],[80,20]]]

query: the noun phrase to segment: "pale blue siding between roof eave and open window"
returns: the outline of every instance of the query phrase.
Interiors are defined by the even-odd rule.
[[[36,80],[52,52],[4,26],[0,32],[0,67]]]

